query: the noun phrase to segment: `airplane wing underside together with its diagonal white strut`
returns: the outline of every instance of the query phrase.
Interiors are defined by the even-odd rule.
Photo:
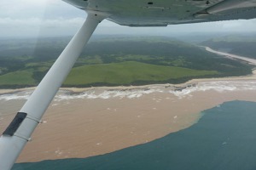
[[[256,0],[64,0],[88,13],[84,25],[0,137],[0,169],[9,170],[98,24],[167,26],[256,18]]]

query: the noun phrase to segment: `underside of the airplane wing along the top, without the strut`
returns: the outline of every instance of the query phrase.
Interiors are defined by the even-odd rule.
[[[167,26],[253,19],[256,0],[63,0],[86,11],[101,11],[122,26]]]

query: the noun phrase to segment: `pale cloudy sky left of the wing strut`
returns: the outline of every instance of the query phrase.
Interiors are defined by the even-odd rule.
[[[72,35],[85,18],[84,11],[61,0],[0,1],[0,36]]]

